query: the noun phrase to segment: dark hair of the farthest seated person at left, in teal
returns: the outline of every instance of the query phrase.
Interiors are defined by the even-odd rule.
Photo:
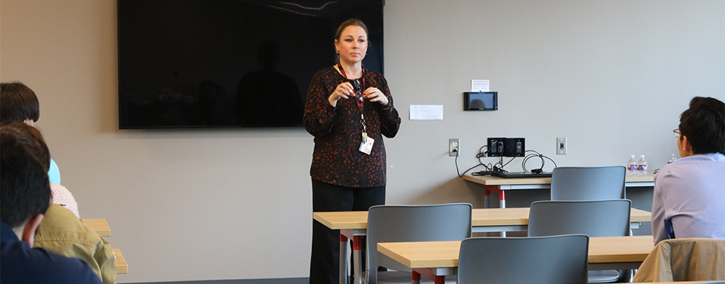
[[[40,104],[33,90],[17,81],[0,83],[0,122],[36,122],[40,116]]]

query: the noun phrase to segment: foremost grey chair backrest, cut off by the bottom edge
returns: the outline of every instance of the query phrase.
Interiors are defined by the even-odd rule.
[[[588,254],[587,235],[467,238],[457,283],[587,283]]]

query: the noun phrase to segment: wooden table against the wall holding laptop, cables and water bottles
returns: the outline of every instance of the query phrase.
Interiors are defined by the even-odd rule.
[[[551,188],[551,178],[499,178],[490,175],[463,175],[464,180],[484,185],[484,206],[489,207],[491,191],[499,193],[499,207],[506,208],[506,191],[521,189]],[[624,186],[628,188],[655,186],[655,175],[626,177]]]

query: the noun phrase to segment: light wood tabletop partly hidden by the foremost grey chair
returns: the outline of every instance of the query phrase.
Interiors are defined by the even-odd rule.
[[[589,238],[589,270],[637,269],[653,248],[651,235]],[[378,243],[378,251],[437,284],[456,273],[460,241]]]

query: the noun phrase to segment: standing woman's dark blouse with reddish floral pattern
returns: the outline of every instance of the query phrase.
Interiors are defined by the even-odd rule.
[[[392,106],[393,98],[382,75],[363,68],[363,78],[365,85],[362,91],[376,87],[388,97]],[[335,107],[328,102],[337,85],[345,81],[352,80],[329,67],[315,74],[307,90],[305,129],[315,136],[310,176],[323,183],[353,188],[385,185],[386,154],[381,135],[393,138],[398,133],[400,117],[394,106],[383,109],[378,102],[365,99],[365,128],[368,137],[375,139],[375,143],[369,155],[359,151],[363,125],[360,124],[360,109],[355,97],[340,99]]]

